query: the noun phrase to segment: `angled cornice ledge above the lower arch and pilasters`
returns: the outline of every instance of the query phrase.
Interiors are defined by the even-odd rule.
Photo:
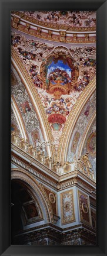
[[[12,149],[13,150],[13,149]],[[22,152],[23,153],[23,152]],[[24,169],[31,176],[38,179],[41,183],[46,184],[56,191],[65,190],[72,186],[81,187],[81,189],[85,190],[89,194],[91,191],[95,190],[95,182],[86,177],[81,171],[76,170],[72,171],[72,173],[68,175],[63,175],[63,177],[59,177],[58,174],[52,173],[51,170],[46,168],[41,164],[42,170],[40,169],[39,163],[37,160],[33,158],[28,158],[28,154],[26,154],[26,159],[18,155],[19,153],[15,153],[12,151],[12,163],[17,167]],[[36,166],[33,163],[36,163]],[[44,172],[46,170],[46,172]]]

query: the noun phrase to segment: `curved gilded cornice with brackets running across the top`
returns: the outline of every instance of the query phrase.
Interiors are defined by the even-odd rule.
[[[82,43],[89,44],[96,42],[96,28],[71,28],[69,26],[46,23],[35,20],[34,18],[14,12],[11,15],[12,27],[23,33],[41,39],[63,42],[63,43]]]

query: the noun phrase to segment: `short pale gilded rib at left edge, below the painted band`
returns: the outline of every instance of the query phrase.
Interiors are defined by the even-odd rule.
[[[14,111],[15,118],[18,123],[22,138],[24,138],[25,140],[28,139],[28,141],[29,141],[28,134],[25,129],[24,121],[21,116],[21,112],[19,111],[18,105],[15,102],[14,96],[11,95],[11,98],[12,98],[11,99],[11,107],[12,107],[12,110]]]

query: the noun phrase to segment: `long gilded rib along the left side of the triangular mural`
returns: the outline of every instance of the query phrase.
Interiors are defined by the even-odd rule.
[[[12,48],[12,64],[21,77],[22,82],[25,85],[26,91],[28,92],[29,97],[31,98],[32,105],[34,106],[36,115],[38,116],[38,120],[41,126],[42,134],[44,136],[45,141],[53,142],[51,128],[49,127],[48,119],[45,114],[44,107],[42,106],[41,99],[36,91],[34,84],[32,83],[31,77],[29,77],[28,73],[25,70],[24,65],[16,54],[14,48]],[[55,147],[48,146],[47,147],[48,156],[52,157],[52,160],[55,160]]]

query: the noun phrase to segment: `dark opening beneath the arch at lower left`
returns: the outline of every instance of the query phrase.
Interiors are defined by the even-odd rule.
[[[39,217],[34,198],[22,180],[11,182],[11,205],[11,244],[18,244],[18,238],[15,236],[21,234],[25,224]]]

